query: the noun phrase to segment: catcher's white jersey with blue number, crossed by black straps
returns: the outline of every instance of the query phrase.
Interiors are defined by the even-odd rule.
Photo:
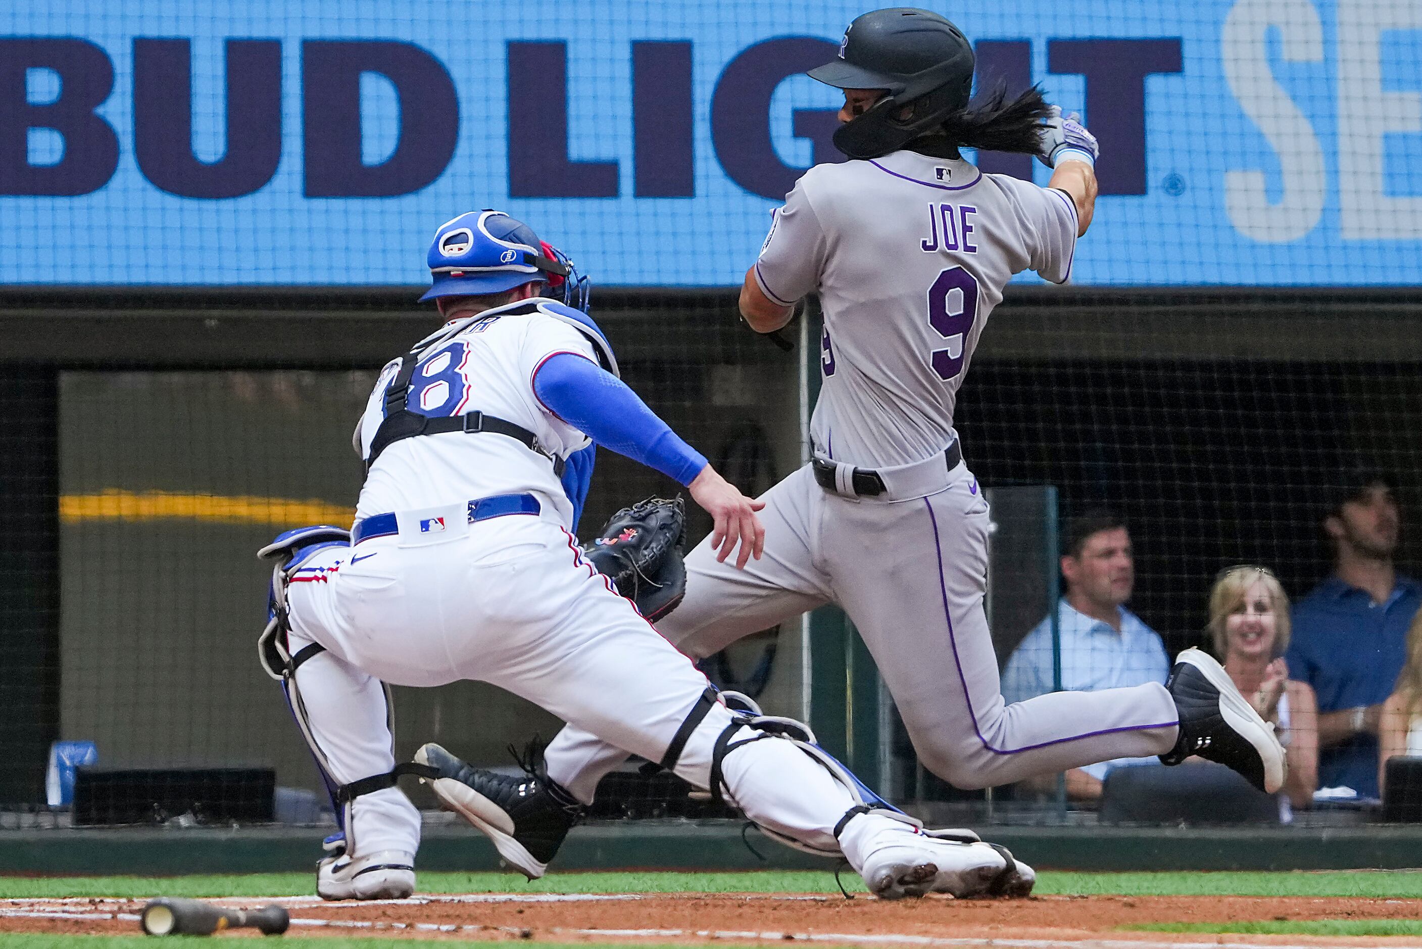
[[[526,306],[526,302],[519,302]],[[410,380],[408,408],[431,417],[483,411],[532,431],[546,451],[567,457],[589,444],[587,435],[547,411],[533,394],[533,373],[555,353],[576,353],[594,363],[580,332],[540,313],[501,316],[491,310],[432,347]],[[360,455],[370,455],[384,420],[385,388],[400,371],[392,360],[375,380],[356,428]],[[572,525],[573,505],[549,458],[506,435],[445,433],[404,438],[381,452],[365,477],[356,516],[462,504],[496,494],[539,495]]]

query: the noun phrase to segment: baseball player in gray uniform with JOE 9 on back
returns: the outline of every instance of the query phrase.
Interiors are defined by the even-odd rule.
[[[1182,653],[1165,684],[1061,691],[1004,704],[983,609],[988,505],[953,408],[1008,279],[1071,276],[1095,206],[1096,139],[1037,90],[968,105],[973,47],[941,16],[890,9],[845,33],[809,73],[843,90],[845,164],[811,168],[774,218],[741,290],[751,329],[785,326],[818,293],[823,387],[815,460],[771,488],[764,556],[735,569],[710,538],[687,556],[681,606],[658,623],[693,657],[838,603],[857,626],[920,761],[980,788],[1118,757],[1200,754],[1277,791],[1284,753],[1223,669]],[[1047,188],[987,175],[960,148],[1035,154]],[[590,802],[624,753],[570,723],[546,750],[539,794]],[[469,781],[498,804],[498,775]],[[560,815],[560,817],[559,817]],[[522,800],[547,862],[574,810]]]

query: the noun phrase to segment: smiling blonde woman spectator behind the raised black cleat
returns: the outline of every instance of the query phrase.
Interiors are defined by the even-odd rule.
[[[1254,711],[1274,723],[1288,750],[1281,794],[1293,807],[1308,808],[1318,781],[1318,703],[1307,683],[1288,680],[1281,659],[1288,633],[1288,595],[1268,568],[1220,572],[1210,590],[1214,654]],[[1283,812],[1285,822],[1288,814]]]

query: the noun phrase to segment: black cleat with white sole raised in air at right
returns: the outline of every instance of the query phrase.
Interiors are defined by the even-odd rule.
[[[1186,649],[1175,657],[1165,687],[1180,716],[1180,737],[1160,761],[1180,764],[1197,754],[1234,768],[1260,791],[1273,794],[1284,785],[1284,746],[1274,726],[1244,700],[1220,663]]]

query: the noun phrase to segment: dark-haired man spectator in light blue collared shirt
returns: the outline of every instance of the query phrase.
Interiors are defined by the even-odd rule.
[[[1128,610],[1135,586],[1130,535],[1126,524],[1106,511],[1091,512],[1068,525],[1061,572],[1066,596],[1057,610],[1061,635],[1061,680],[1054,673],[1052,617],[1038,623],[1018,643],[1003,672],[1003,697],[1024,701],[1048,691],[1096,691],[1165,683],[1170,662],[1160,636]],[[1118,758],[1066,773],[1066,795],[1095,801],[1106,771],[1156,758]]]

